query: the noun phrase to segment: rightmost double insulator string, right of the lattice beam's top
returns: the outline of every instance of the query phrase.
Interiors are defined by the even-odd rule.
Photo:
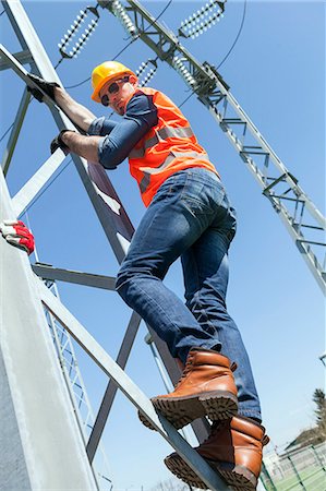
[[[181,22],[179,35],[182,37],[198,37],[224,17],[225,5],[218,0],[210,0],[202,9]]]

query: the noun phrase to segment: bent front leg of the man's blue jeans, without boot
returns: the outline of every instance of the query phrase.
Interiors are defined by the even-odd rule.
[[[218,344],[215,335],[205,332],[182,300],[162,284],[169,266],[213,219],[212,211],[207,216],[192,215],[181,199],[191,188],[189,173],[178,172],[160,187],[135,231],[117,278],[119,295],[183,363],[193,346],[213,348]]]

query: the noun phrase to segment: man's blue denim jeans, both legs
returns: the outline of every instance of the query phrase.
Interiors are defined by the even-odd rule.
[[[117,291],[183,363],[192,347],[214,348],[236,361],[239,414],[261,419],[249,357],[226,307],[236,223],[214,172],[197,167],[176,172],[161,184],[133,236]],[[186,306],[162,283],[180,256]]]

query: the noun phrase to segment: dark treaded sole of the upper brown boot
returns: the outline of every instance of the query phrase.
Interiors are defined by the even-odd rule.
[[[164,415],[177,430],[204,416],[215,421],[230,419],[238,412],[237,396],[227,391],[214,391],[188,397],[154,397],[150,400],[155,409]],[[146,428],[155,430],[145,416],[138,412],[138,417]]]

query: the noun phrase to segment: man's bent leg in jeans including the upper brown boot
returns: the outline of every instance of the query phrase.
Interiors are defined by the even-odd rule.
[[[224,197],[217,184],[215,175],[203,169],[169,178],[145,213],[117,279],[124,301],[166,340],[173,357],[186,361],[186,376],[176,391],[152,399],[177,428],[205,415],[229,418],[238,408],[234,367],[209,349],[220,348],[216,333],[204,331],[162,284],[170,264],[214,220]]]

